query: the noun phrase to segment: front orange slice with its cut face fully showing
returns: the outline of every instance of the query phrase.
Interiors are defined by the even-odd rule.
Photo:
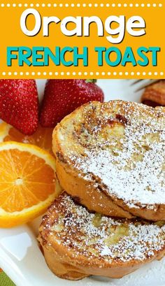
[[[60,192],[55,159],[30,144],[0,143],[0,227],[33,220]]]

